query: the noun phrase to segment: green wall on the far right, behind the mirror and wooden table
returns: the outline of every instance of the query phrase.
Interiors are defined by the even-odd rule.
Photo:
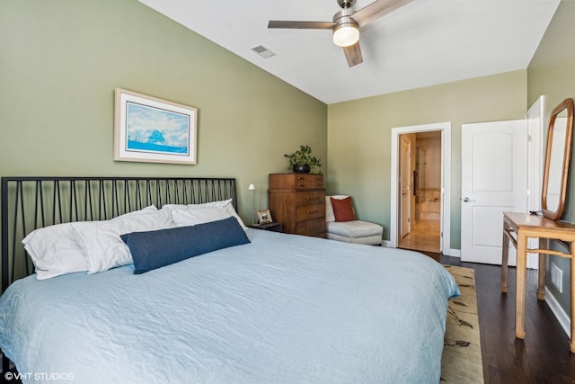
[[[545,103],[551,111],[566,98],[575,98],[575,3],[562,1],[553,16],[544,38],[537,48],[527,69],[528,102],[534,103],[539,95],[546,96]],[[571,176],[569,177],[567,200],[562,219],[575,222],[575,151],[571,155]],[[563,250],[564,251],[564,250]],[[547,262],[546,286],[552,290],[567,313],[571,310],[569,283],[571,279],[570,260],[551,256]],[[550,263],[562,269],[563,293],[551,284]],[[571,320],[575,321],[575,320]]]

